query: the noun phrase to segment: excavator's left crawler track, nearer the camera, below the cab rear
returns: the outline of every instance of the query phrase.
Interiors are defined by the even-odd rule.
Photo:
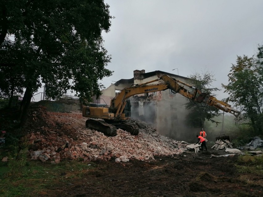
[[[106,123],[105,121],[88,119],[86,120],[86,127],[100,131],[104,133],[104,135],[106,136],[116,136],[117,135],[117,129],[115,125],[111,125],[109,123]]]

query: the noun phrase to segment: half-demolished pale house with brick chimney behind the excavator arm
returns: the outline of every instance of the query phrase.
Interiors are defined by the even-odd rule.
[[[159,79],[162,75],[168,75],[187,83],[187,77],[172,73],[163,71],[145,73],[145,70],[135,70],[133,71],[133,78],[121,79],[115,84],[111,84],[102,90],[102,96],[94,102],[110,105],[111,99],[123,88]],[[162,82],[159,80],[150,84]],[[185,104],[189,100],[178,93],[171,92],[170,89],[138,94],[129,99],[131,101],[131,117],[153,124],[157,131],[164,136],[186,140],[189,137],[194,138],[194,134],[198,132],[199,128],[190,128],[185,123],[186,116],[190,113],[190,110],[185,109]]]

